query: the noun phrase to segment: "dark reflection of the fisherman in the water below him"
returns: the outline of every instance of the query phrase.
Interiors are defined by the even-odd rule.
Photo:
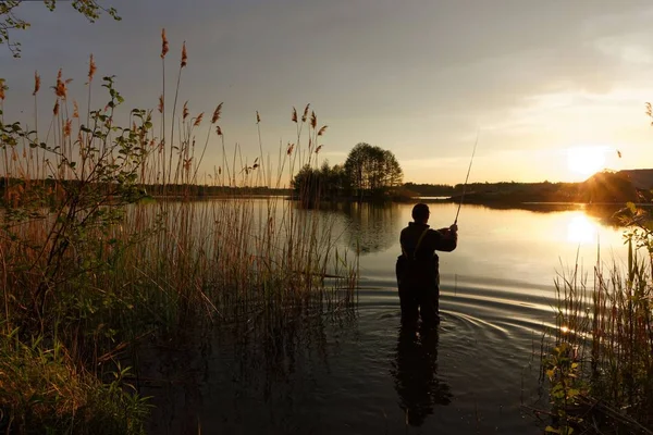
[[[433,407],[449,405],[453,395],[438,378],[438,330],[402,325],[392,374],[399,408],[411,426],[421,426]]]

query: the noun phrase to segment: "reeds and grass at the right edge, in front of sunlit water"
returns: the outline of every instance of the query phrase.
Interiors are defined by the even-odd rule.
[[[577,264],[556,281],[556,328],[542,363],[554,410],[547,431],[653,433],[651,235],[648,224],[626,234],[624,268],[597,258],[591,279]]]

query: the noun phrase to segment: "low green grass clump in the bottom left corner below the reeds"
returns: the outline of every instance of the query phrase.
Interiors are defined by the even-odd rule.
[[[0,337],[0,403],[3,431],[16,433],[141,434],[146,397],[125,390],[128,369],[101,383],[54,343],[23,343],[14,330]],[[12,433],[11,431],[9,433]]]

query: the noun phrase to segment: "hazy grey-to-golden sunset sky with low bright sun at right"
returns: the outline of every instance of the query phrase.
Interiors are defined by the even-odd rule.
[[[395,154],[405,182],[463,183],[475,142],[470,182],[652,167],[650,0],[106,0],[123,20],[95,24],[58,4],[17,9],[32,24],[12,34],[21,59],[0,46],[5,119],[34,120],[35,71],[50,85],[63,69],[85,101],[90,53],[99,76],[116,76],[127,110],[155,109],[165,28],[168,95],[186,41],[180,101],[209,117],[224,102],[227,148],[238,142],[248,161],[259,154],[256,111],[274,165],[280,144],[296,140],[292,108],[310,103],[329,126],[319,161],[343,163],[368,142]],[[202,170],[220,164],[218,144]]]

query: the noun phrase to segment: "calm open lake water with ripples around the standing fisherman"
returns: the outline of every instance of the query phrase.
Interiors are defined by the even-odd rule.
[[[202,332],[157,361],[153,434],[542,434],[528,408],[543,332],[555,324],[554,278],[578,257],[591,274],[624,261],[611,211],[574,204],[464,206],[458,248],[440,253],[442,323],[399,326],[394,276],[411,204],[341,204],[340,244],[360,249],[358,303],[283,325]],[[456,204],[432,203],[448,226]],[[200,430],[200,432],[198,431]]]

